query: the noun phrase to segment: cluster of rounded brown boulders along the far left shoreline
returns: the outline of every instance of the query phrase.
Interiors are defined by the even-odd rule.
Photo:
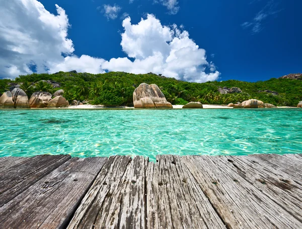
[[[54,96],[49,92],[37,91],[28,99],[27,94],[21,88],[15,87],[12,92],[7,91],[0,97],[0,108],[68,107],[69,102],[61,96],[62,93],[64,91],[61,89],[56,91]]]

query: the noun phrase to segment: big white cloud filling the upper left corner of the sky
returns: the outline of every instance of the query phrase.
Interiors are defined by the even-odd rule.
[[[71,54],[65,11],[56,5],[50,14],[38,1],[0,1],[0,77],[32,73],[29,65],[45,72],[46,62],[61,62]]]

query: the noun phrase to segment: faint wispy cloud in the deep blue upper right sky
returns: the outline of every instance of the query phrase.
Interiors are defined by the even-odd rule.
[[[253,4],[255,1],[251,2]],[[275,0],[270,0],[261,11],[259,11],[251,22],[244,22],[241,26],[245,29],[251,28],[252,33],[259,33],[262,29],[262,21],[267,19],[269,16],[279,13],[281,10],[276,10],[278,3],[275,3]]]

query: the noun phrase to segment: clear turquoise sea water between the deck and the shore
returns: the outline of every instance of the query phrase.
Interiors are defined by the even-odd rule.
[[[302,153],[302,109],[0,110],[0,156]]]

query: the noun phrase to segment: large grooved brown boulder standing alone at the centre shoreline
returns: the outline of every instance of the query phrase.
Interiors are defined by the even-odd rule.
[[[133,92],[135,108],[173,108],[156,84],[141,83]]]

